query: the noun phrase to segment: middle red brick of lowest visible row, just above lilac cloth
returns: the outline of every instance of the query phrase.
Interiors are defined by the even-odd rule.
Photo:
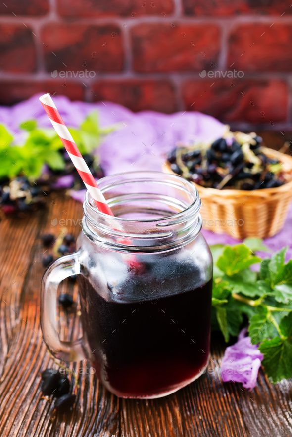
[[[168,81],[101,81],[94,84],[93,92],[96,101],[120,103],[133,111],[152,109],[170,113],[177,110],[175,90]]]

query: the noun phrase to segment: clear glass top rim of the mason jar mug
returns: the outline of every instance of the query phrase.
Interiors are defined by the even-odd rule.
[[[118,222],[120,225],[122,223],[146,223],[146,222],[159,222],[161,221],[165,221],[166,219],[168,220],[180,220],[183,217],[185,217],[186,215],[189,214],[198,214],[199,210],[200,210],[200,206],[201,206],[201,201],[200,201],[200,197],[199,197],[199,193],[197,188],[195,187],[194,184],[192,184],[191,182],[189,182],[188,180],[184,179],[183,177],[179,176],[179,175],[172,175],[169,173],[164,173],[164,172],[158,172],[158,171],[147,171],[147,170],[136,170],[136,171],[130,171],[130,172],[123,172],[123,173],[116,173],[114,175],[108,175],[105,177],[102,177],[101,179],[98,180],[98,187],[101,190],[102,193],[104,193],[107,189],[113,188],[116,184],[115,183],[110,183],[113,182],[114,180],[118,180],[120,177],[122,176],[133,176],[135,177],[135,182],[137,181],[145,181],[145,178],[149,178],[149,176],[163,176],[164,178],[168,178],[170,181],[174,182],[174,186],[176,185],[177,187],[180,187],[181,189],[185,189],[185,191],[188,191],[188,194],[193,196],[193,201],[186,207],[184,208],[182,211],[173,213],[173,214],[169,214],[167,216],[162,216],[162,217],[155,217],[155,218],[147,218],[147,219],[128,219],[125,217],[117,217],[117,216],[108,216],[107,214],[103,213],[102,211],[98,210],[96,208],[96,206],[93,205],[93,198],[91,197],[89,191],[86,192],[85,195],[85,199],[84,199],[84,203],[83,203],[83,209],[84,209],[84,213],[86,215],[86,209],[89,209],[91,214],[96,215],[96,217],[98,218],[103,218],[103,219],[108,219],[110,217],[111,222]],[[148,179],[149,181],[151,179]],[[146,179],[147,181],[147,179]],[[157,182],[159,183],[159,180],[157,180]],[[163,181],[162,179],[160,180],[160,183],[164,183],[165,181]],[[120,184],[120,183],[119,183]],[[137,193],[139,194],[139,193]]]

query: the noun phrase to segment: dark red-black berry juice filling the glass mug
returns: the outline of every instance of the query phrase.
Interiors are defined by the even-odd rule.
[[[100,380],[118,396],[172,393],[195,380],[208,363],[212,280],[188,289],[192,275],[180,277],[183,291],[172,294],[162,282],[171,284],[160,278],[163,293],[157,298],[153,290],[159,278],[150,277],[147,293],[145,278],[134,275],[124,284],[127,294],[134,287],[133,299],[124,300],[123,286],[119,297],[109,293],[105,299],[97,286],[79,276],[83,329],[93,364]],[[145,298],[134,300],[139,287]]]

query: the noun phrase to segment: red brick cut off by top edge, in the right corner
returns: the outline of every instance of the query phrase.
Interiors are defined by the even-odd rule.
[[[238,14],[282,15],[291,14],[290,0],[183,0],[186,15],[231,16]]]

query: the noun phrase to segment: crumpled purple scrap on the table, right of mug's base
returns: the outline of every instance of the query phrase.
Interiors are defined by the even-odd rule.
[[[239,334],[239,340],[226,348],[221,364],[221,376],[224,382],[240,382],[245,389],[253,389],[263,354],[256,345],[250,341],[250,337],[244,337],[246,329]]]

